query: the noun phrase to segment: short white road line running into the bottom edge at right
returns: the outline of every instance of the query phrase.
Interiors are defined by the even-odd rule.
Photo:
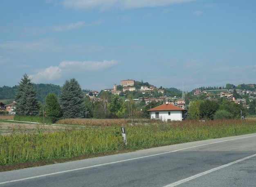
[[[209,174],[209,173],[211,173],[211,172],[213,172],[213,171],[217,171],[217,170],[219,170],[219,169],[222,169],[222,168],[224,168],[224,167],[228,167],[228,166],[230,166],[230,165],[239,163],[239,162],[241,162],[241,161],[243,161],[243,160],[247,160],[247,159],[252,158],[252,157],[254,157],[254,156],[256,156],[256,154],[251,155],[251,156],[247,156],[247,157],[245,157],[245,158],[236,160],[236,161],[234,161],[234,162],[231,162],[231,163],[228,163],[228,164],[225,164],[225,165],[222,165],[222,166],[213,168],[213,169],[210,169],[210,170],[208,170],[208,171],[204,171],[204,172],[202,172],[202,173],[200,173],[200,174],[196,174],[196,175],[194,175],[194,176],[191,176],[191,177],[188,177],[188,178],[184,178],[184,179],[182,179],[182,180],[179,180],[179,181],[177,181],[177,182],[175,182],[175,183],[171,183],[171,184],[166,185],[166,186],[164,186],[164,187],[174,187],[174,186],[177,186],[177,185],[186,183],[186,182],[188,182],[189,180],[193,180],[193,179],[198,178],[198,177],[200,177],[200,176],[203,176],[203,175]]]

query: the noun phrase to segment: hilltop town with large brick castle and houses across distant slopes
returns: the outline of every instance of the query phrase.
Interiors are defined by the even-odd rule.
[[[180,91],[182,93],[181,97],[180,97],[180,94],[178,94],[178,96],[176,95],[171,97],[166,95],[166,89],[159,89],[149,84],[147,86],[141,85],[139,88],[136,88],[135,82],[136,81],[132,79],[121,80],[119,89],[117,89],[117,84],[113,84],[113,88],[104,89],[104,91],[109,91],[111,94],[117,94],[117,95],[120,95],[121,93],[125,93],[127,91],[130,91],[130,92],[138,91],[139,93],[143,94],[143,96],[139,98],[134,98],[134,99],[138,101],[141,101],[142,99],[144,99],[146,104],[154,100],[156,102],[171,101],[171,104],[181,108],[184,108],[186,105],[184,89]],[[224,87],[218,87],[218,89],[211,88],[211,90],[207,90],[202,87],[200,89],[193,90],[192,93],[193,93],[193,96],[198,96],[198,97],[201,96],[202,98],[206,98],[209,100],[217,100],[217,98],[225,97],[229,101],[232,101],[238,104],[240,104],[241,102],[245,107],[249,107],[248,103],[246,103],[245,98],[236,98],[233,96],[233,92],[234,90],[236,90],[237,94],[241,96],[248,96],[249,101],[256,99],[256,89],[255,89],[256,85],[249,84],[247,85],[247,87],[250,89],[240,89],[239,86],[234,86],[234,85],[231,85],[229,89],[226,89]],[[157,94],[161,96],[154,97],[153,95],[155,92],[157,92]],[[99,91],[94,90],[94,91],[88,92],[87,96],[90,96],[91,99],[97,100],[99,99],[97,98],[99,94],[100,94]]]

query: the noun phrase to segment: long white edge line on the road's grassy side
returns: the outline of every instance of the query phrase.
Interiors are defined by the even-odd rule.
[[[254,136],[256,136],[256,135],[254,135]],[[158,156],[158,155],[162,155],[162,154],[173,153],[173,152],[182,151],[182,150],[185,150],[185,149],[191,149],[191,148],[195,148],[195,147],[202,147],[202,146],[205,146],[205,145],[211,145],[211,144],[215,144],[215,143],[227,142],[227,141],[231,141],[231,140],[239,140],[239,139],[243,139],[243,138],[251,138],[251,137],[254,137],[254,136],[246,136],[246,137],[234,138],[234,139],[230,139],[230,140],[223,140],[223,141],[219,141],[219,142],[212,142],[212,143],[208,143],[208,144],[196,145],[196,146],[193,146],[193,147],[186,147],[186,148],[183,148],[183,149],[177,149],[177,150],[174,150],[174,151],[168,151],[168,152],[164,152],[164,153],[158,153],[158,154],[153,154],[153,155],[148,155],[148,156],[141,156],[141,157],[137,157],[137,158],[130,158],[130,159],[126,159],[126,160],[119,160],[119,161],[115,161],[115,162],[92,165],[92,166],[81,167],[81,168],[76,168],[76,169],[69,169],[69,170],[65,170],[65,171],[58,171],[58,172],[54,172],[54,173],[50,173],[50,174],[43,174],[43,175],[32,176],[32,177],[27,177],[27,178],[20,178],[20,179],[16,179],[16,180],[7,180],[7,181],[4,181],[4,182],[0,182],[0,185],[7,184],[7,183],[18,182],[18,181],[22,181],[22,180],[29,180],[29,179],[34,179],[34,178],[51,176],[51,175],[56,175],[56,174],[63,174],[63,173],[67,173],[67,172],[71,172],[71,171],[78,171],[78,170],[82,170],[82,169],[89,169],[89,168],[93,168],[93,167],[100,167],[100,166],[105,166],[105,165],[110,165],[110,164],[122,163],[122,162],[130,161],[130,160],[137,160],[137,159],[147,158],[147,157],[151,157],[151,156]]]

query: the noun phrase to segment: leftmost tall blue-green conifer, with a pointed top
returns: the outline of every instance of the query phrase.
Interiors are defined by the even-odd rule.
[[[31,78],[25,73],[19,82],[16,93],[16,114],[20,116],[36,116],[39,113],[39,103]]]

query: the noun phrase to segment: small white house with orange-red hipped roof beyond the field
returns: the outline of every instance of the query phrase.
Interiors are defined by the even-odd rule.
[[[176,107],[171,102],[166,102],[164,105],[149,109],[148,111],[150,111],[150,119],[182,121],[186,109]]]

